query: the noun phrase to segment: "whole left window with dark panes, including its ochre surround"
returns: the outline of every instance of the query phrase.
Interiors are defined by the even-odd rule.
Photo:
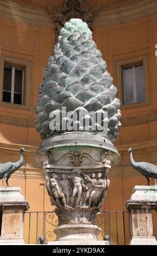
[[[1,55],[0,108],[31,108],[33,61],[32,57],[26,60]]]

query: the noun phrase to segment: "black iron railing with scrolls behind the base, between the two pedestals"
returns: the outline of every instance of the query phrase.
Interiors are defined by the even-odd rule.
[[[56,240],[57,216],[53,212],[25,212],[24,241],[38,243],[38,237],[44,236],[45,242]],[[113,245],[128,245],[130,241],[130,223],[128,211],[102,211],[97,215],[97,225],[102,232],[99,238]]]

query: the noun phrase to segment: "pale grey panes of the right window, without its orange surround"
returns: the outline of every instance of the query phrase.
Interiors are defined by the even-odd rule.
[[[123,66],[123,101],[125,105],[145,101],[143,63]]]

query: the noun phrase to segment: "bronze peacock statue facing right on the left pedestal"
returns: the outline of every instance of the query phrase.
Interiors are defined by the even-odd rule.
[[[14,173],[17,169],[19,169],[23,164],[23,156],[22,152],[24,152],[24,148],[19,150],[19,160],[15,163],[6,162],[2,163],[0,166],[0,179],[2,179],[2,184],[4,187],[4,180],[6,179],[6,185],[9,187],[8,180],[12,173]]]

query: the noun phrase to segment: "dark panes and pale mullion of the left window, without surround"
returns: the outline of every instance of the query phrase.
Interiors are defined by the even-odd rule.
[[[25,66],[4,62],[2,101],[24,105]]]

